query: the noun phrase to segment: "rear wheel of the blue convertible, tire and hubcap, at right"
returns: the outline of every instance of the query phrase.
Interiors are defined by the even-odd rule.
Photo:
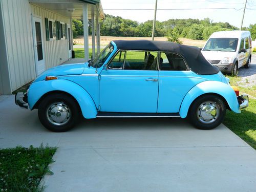
[[[222,123],[226,105],[222,98],[215,95],[203,95],[190,106],[188,118],[198,129],[210,130]]]

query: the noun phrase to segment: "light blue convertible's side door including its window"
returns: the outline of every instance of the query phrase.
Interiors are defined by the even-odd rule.
[[[113,56],[100,74],[101,112],[157,112],[157,54],[147,51],[118,51]]]

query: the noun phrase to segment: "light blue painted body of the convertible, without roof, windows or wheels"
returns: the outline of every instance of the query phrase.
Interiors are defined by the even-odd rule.
[[[174,113],[185,118],[196,98],[216,94],[230,110],[240,113],[236,93],[221,72],[110,70],[106,65],[119,50],[114,41],[111,45],[113,51],[98,68],[90,62],[61,65],[38,76],[28,91],[29,108],[37,108],[49,93],[63,92],[76,99],[87,119],[96,118],[99,112]],[[47,76],[57,78],[46,80]]]

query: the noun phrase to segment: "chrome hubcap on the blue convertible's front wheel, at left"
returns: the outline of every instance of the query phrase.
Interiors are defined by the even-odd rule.
[[[47,109],[47,118],[54,125],[63,125],[70,120],[71,111],[63,102],[52,103]]]

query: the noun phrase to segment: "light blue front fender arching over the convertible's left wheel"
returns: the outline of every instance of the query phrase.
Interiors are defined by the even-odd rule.
[[[32,83],[28,92],[29,109],[32,110],[36,102],[51,91],[69,93],[77,100],[84,118],[96,118],[97,108],[92,97],[78,84],[66,79],[43,80]]]

